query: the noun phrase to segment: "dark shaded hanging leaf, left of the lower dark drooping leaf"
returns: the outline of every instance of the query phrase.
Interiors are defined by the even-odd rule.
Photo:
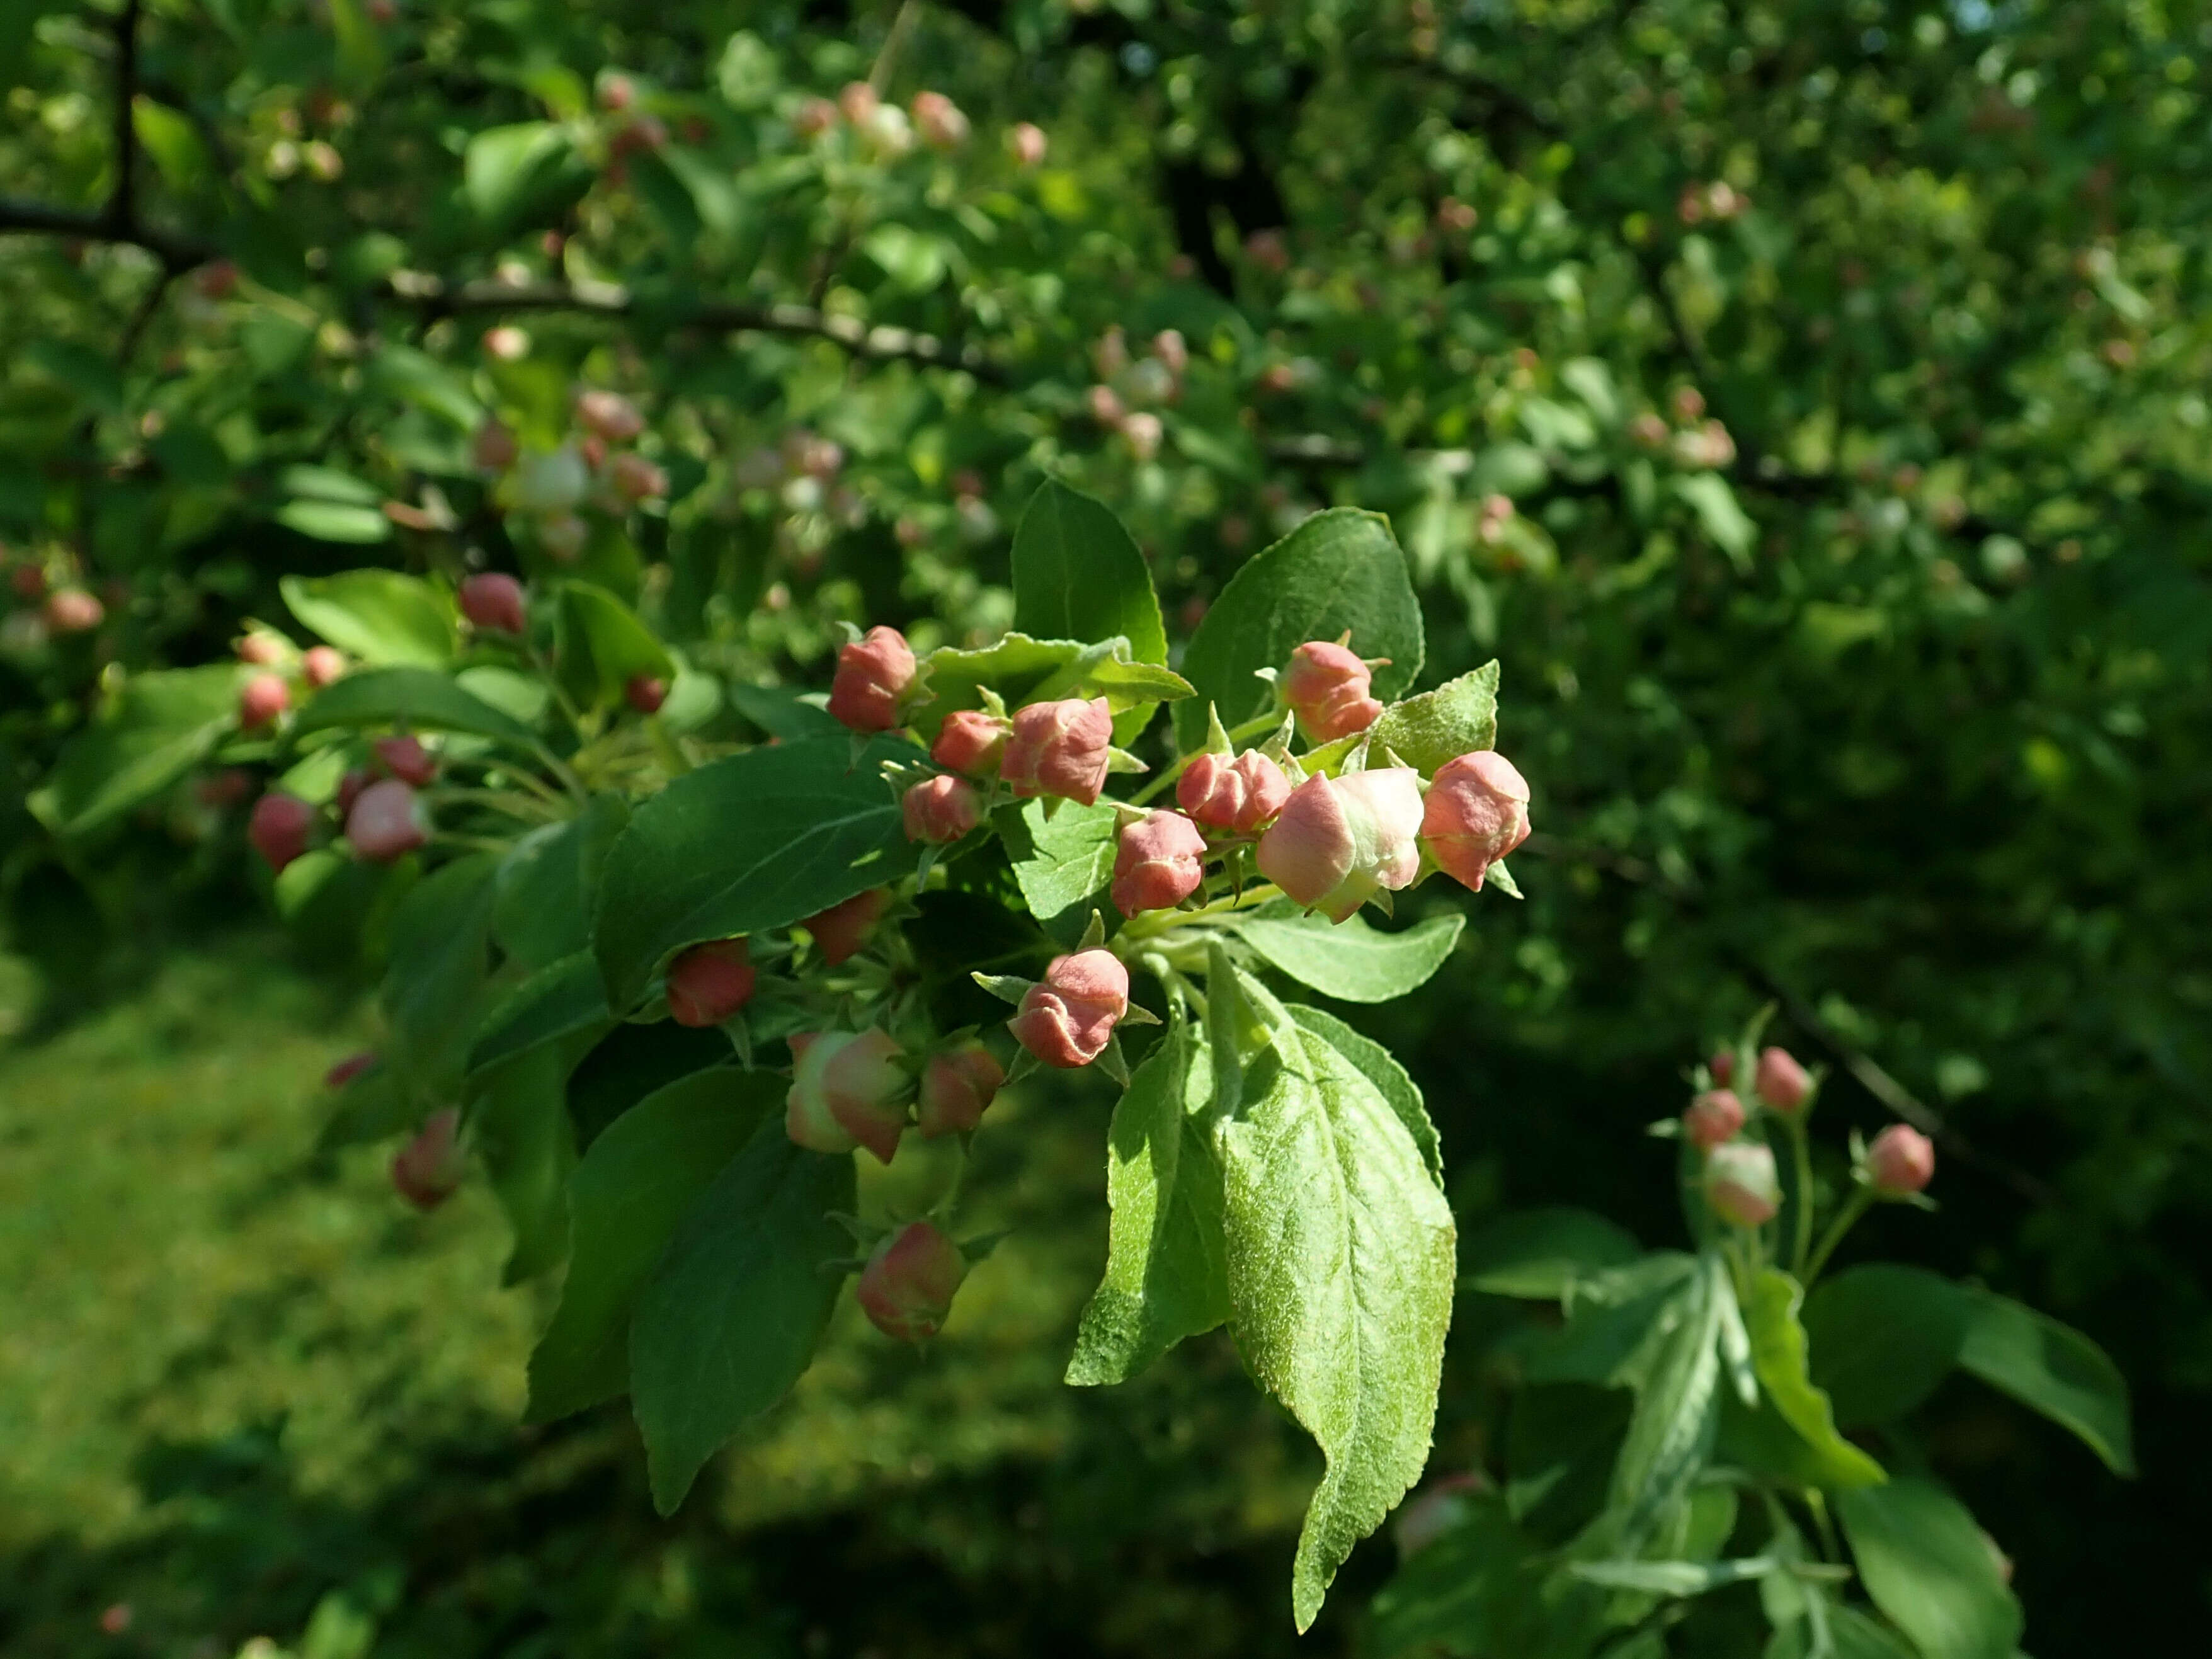
[[[617,1117],[568,1179],[568,1276],[531,1354],[529,1422],[630,1387],[630,1312],[677,1223],[783,1104],[783,1082],[717,1066]]]

